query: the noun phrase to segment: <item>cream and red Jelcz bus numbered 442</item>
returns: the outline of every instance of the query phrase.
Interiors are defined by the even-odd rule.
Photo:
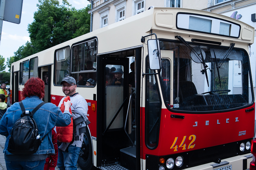
[[[239,20],[155,7],[13,63],[11,102],[40,77],[44,102],[58,106],[60,82],[74,77],[91,122],[81,169],[249,169],[253,41]]]

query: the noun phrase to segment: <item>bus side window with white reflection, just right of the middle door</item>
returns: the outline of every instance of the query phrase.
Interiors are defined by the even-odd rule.
[[[55,53],[55,85],[60,85],[64,77],[69,76],[70,47],[63,48]]]

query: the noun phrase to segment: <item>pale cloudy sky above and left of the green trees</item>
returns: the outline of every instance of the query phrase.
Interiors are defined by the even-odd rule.
[[[62,0],[59,1],[62,4]],[[87,0],[68,0],[68,2],[76,9],[84,8],[89,4]],[[38,4],[38,0],[23,0],[20,24],[3,22],[0,55],[5,58],[5,61],[8,57],[13,56],[20,46],[30,41],[27,29],[28,24],[34,21],[34,12],[38,9],[36,4]],[[8,71],[8,69],[6,67],[5,71]]]

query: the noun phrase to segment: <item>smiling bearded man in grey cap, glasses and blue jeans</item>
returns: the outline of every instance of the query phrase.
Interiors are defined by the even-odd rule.
[[[66,96],[70,97],[72,106],[71,111],[73,115],[73,139],[74,141],[68,145],[68,148],[63,151],[58,149],[58,162],[57,166],[60,170],[77,169],[77,159],[83,143],[83,136],[86,126],[90,124],[87,118],[88,104],[86,100],[76,92],[76,80],[73,77],[65,77],[62,82],[62,91]],[[65,96],[65,97],[66,97]],[[59,103],[59,107],[63,103],[63,97]],[[61,143],[58,143],[60,146]]]

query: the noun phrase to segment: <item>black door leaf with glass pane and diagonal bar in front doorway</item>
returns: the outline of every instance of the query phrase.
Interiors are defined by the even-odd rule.
[[[97,61],[101,68],[99,71],[101,74],[97,74],[97,106],[102,106],[100,111],[97,108],[97,167],[99,167],[119,162],[120,149],[127,147],[128,140],[124,126],[128,106],[129,60],[121,57],[100,56]],[[106,67],[123,70],[123,76],[119,79],[121,85],[107,85]],[[111,75],[112,73],[109,73],[107,76],[111,77]]]

